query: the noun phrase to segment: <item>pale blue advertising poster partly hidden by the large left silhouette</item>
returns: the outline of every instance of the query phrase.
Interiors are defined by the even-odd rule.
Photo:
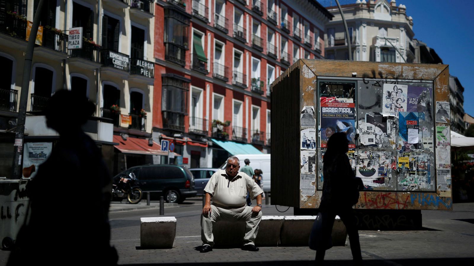
[[[32,178],[38,166],[48,159],[53,149],[53,142],[27,142],[23,151],[23,178]]]

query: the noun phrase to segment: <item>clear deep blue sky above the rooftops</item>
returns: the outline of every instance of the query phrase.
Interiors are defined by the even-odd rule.
[[[326,7],[336,5],[335,0],[319,3]],[[339,3],[354,4],[356,0]],[[449,73],[463,85],[464,111],[474,116],[474,101],[470,100],[474,98],[474,1],[397,0],[397,6],[400,4],[413,18],[414,38],[435,49],[443,63],[449,65]]]

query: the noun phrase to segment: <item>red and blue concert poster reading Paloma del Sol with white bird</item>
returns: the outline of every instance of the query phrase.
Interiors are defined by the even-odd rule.
[[[321,148],[327,148],[329,137],[336,132],[346,133],[349,149],[356,148],[355,104],[328,102],[321,98]]]

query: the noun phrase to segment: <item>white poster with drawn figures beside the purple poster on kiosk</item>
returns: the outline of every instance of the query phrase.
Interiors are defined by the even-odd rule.
[[[408,85],[384,83],[382,113],[398,117],[398,112],[406,112],[407,90]]]

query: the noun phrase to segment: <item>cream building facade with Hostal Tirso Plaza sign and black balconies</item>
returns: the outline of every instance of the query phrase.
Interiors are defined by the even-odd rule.
[[[7,150],[18,117],[27,25],[33,21],[38,3],[0,1],[0,61],[6,69],[0,79],[0,130]],[[145,148],[157,149],[156,143],[148,141],[155,67],[154,7],[148,0],[45,0],[40,13],[42,37],[37,38],[41,43],[34,48],[28,115],[43,110],[47,99],[59,89],[78,91],[96,104],[98,120],[114,124],[112,143],[137,139]],[[69,29],[77,27],[82,29],[82,48],[70,49]],[[143,154],[152,154],[109,149],[106,157],[109,165],[114,165],[113,172],[127,167],[122,150],[137,164],[146,162]]]

